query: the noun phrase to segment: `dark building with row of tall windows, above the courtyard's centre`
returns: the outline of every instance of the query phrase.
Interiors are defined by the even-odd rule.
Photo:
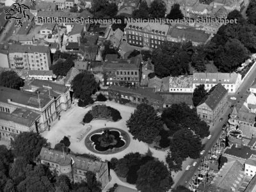
[[[132,85],[140,84],[141,59],[136,57],[131,60],[105,61],[103,71],[106,76],[104,83],[107,86],[121,82]]]

